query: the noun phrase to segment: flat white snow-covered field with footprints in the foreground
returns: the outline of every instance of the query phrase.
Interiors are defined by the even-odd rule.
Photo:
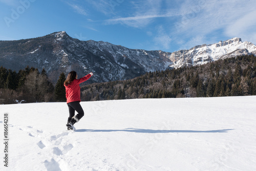
[[[0,105],[0,170],[256,170],[256,96]]]

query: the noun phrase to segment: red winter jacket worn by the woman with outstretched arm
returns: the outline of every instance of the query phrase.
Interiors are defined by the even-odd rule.
[[[66,98],[67,103],[73,102],[73,101],[81,101],[80,99],[80,86],[79,84],[88,80],[91,77],[91,74],[88,74],[82,78],[74,79],[68,86],[65,86],[66,88]]]

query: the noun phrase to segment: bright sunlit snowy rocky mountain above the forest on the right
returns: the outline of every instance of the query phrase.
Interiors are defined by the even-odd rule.
[[[235,37],[217,44],[196,46],[189,50],[181,50],[168,55],[173,61],[170,67],[180,68],[184,66],[202,65],[209,61],[216,61],[238,55],[256,54],[256,46],[251,42],[242,42]]]

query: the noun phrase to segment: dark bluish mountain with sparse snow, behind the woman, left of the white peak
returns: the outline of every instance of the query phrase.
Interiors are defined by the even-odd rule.
[[[128,49],[103,41],[80,41],[62,31],[32,39],[0,41],[0,63],[16,71],[26,66],[45,68],[53,82],[61,72],[72,70],[79,76],[94,72],[88,82],[106,82],[165,70],[172,61],[158,51]]]

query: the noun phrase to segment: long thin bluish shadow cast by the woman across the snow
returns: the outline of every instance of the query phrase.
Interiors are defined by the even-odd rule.
[[[228,130],[210,130],[210,131],[193,131],[193,130],[146,130],[146,129],[132,129],[127,128],[124,130],[86,130],[80,129],[76,130],[76,132],[132,132],[132,133],[227,133]]]

